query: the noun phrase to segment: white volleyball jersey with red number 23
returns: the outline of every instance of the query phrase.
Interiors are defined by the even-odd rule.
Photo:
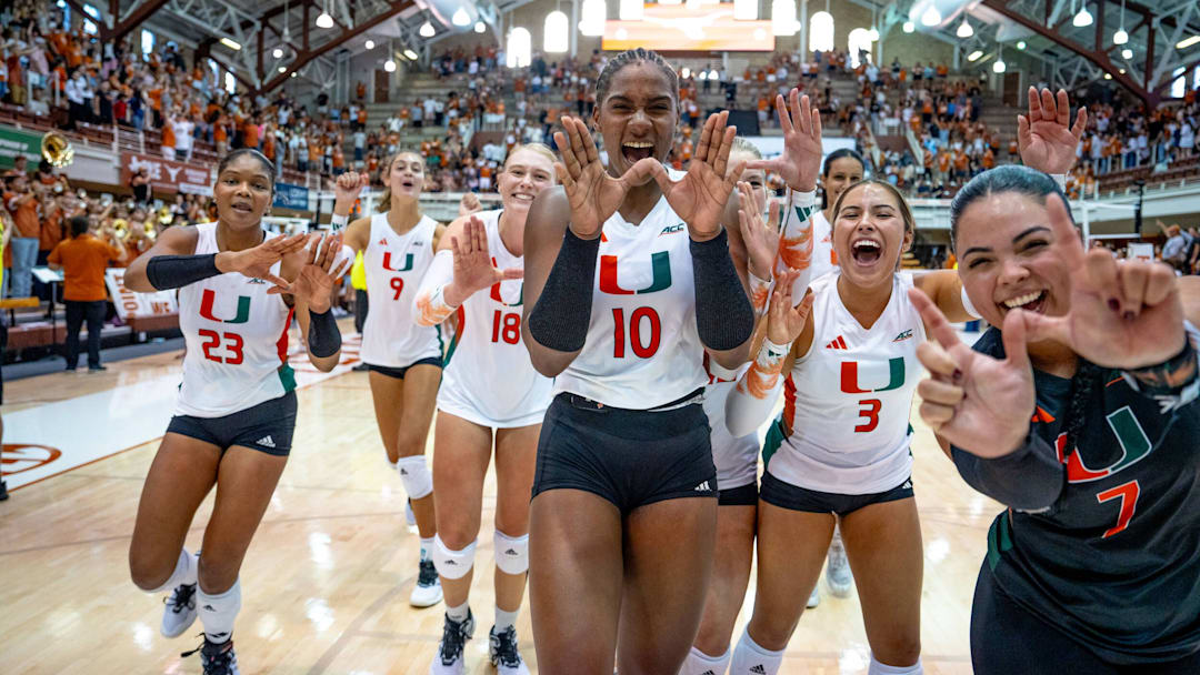
[[[196,254],[217,253],[217,224],[196,225]],[[280,273],[281,263],[271,267]],[[263,279],[236,272],[179,289],[179,327],[187,344],[176,415],[223,417],[295,388],[288,366],[292,309]]]

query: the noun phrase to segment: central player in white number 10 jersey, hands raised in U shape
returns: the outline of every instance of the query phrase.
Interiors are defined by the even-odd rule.
[[[592,125],[556,134],[562,189],[526,229],[526,344],[558,394],[538,446],[529,599],[545,673],[676,673],[696,637],[716,530],[703,358],[745,361],[754,309],[721,212],[736,129],[712,115],[686,174],[668,171],[674,70],[608,61]],[[678,181],[676,181],[678,179]]]

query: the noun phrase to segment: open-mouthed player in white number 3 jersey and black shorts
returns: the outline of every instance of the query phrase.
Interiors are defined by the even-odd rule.
[[[791,147],[788,149],[791,150]],[[812,203],[815,152],[785,152],[788,180]],[[914,222],[882,181],[846,188],[833,207],[836,275],[793,308],[775,287],[766,340],[727,404],[732,434],[766,421],[787,373],[782,442],[768,445],[758,508],[754,615],[731,673],[775,673],[840,520],[871,645],[870,673],[920,673],[922,542],[912,499],[908,411],[924,327],[905,291],[925,289],[967,318],[953,272],[898,273]],[[809,315],[811,308],[811,315]]]

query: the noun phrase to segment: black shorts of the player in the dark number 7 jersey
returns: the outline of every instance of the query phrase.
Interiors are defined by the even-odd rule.
[[[1016,604],[996,584],[985,559],[971,603],[971,663],[976,675],[1195,675],[1200,673],[1200,652],[1166,663],[1109,663],[1058,626]]]

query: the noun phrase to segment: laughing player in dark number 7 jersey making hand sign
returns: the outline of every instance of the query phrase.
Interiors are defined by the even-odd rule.
[[[913,297],[938,342],[920,354],[922,417],[1008,506],[972,607],[983,675],[1200,670],[1200,284],[1084,252],[1039,170],[1070,168],[1085,123],[1080,109],[1069,126],[1066,92],[1031,88],[1018,139],[1032,168],[986,171],[950,206],[958,273],[1000,327],[960,349]]]

